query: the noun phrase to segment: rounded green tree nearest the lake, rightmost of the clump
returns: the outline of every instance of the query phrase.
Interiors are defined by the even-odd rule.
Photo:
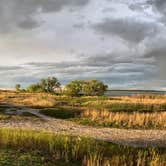
[[[98,80],[86,81],[83,85],[82,92],[86,96],[102,96],[107,91],[108,86]]]

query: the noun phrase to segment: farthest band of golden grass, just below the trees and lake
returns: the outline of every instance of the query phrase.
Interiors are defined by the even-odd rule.
[[[47,93],[18,93],[15,91],[0,91],[0,102],[8,102],[11,104],[30,105],[30,106],[54,106],[57,102],[62,100],[68,100],[69,98],[55,96]],[[72,98],[71,98],[72,99]],[[78,99],[78,98],[77,98]],[[89,101],[84,101],[89,99]],[[109,107],[111,104],[143,104],[143,105],[155,105],[156,108],[160,108],[162,105],[166,105],[166,95],[156,96],[134,96],[134,97],[82,97],[80,100],[73,100],[73,104],[81,102],[83,106],[102,106],[103,108]],[[67,101],[68,102],[68,101]]]

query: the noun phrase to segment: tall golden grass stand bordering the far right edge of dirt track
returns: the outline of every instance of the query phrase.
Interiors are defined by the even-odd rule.
[[[108,126],[115,127],[166,128],[166,112],[125,113],[107,110],[86,110],[81,114],[81,117],[98,124],[105,123]]]

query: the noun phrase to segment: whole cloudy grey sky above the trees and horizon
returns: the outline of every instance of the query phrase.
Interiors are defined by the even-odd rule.
[[[48,76],[166,90],[166,0],[0,0],[0,88]]]

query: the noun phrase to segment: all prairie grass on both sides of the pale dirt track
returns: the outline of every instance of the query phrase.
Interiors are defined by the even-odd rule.
[[[36,114],[18,114],[17,110],[25,108],[52,119],[99,128],[166,129],[166,95],[66,97],[0,91],[0,123],[42,123]],[[9,110],[12,114],[7,113]],[[0,165],[165,166],[166,148],[133,147],[69,133],[4,127],[0,129]]]

